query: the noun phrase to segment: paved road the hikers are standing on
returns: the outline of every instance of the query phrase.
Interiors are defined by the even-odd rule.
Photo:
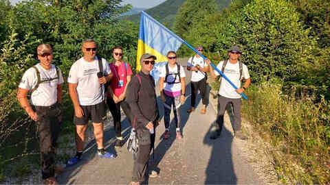
[[[188,75],[187,79],[190,75]],[[188,81],[187,81],[188,82]],[[189,90],[190,88],[188,88]],[[198,99],[199,103],[200,99]],[[159,102],[159,109],[162,111]],[[208,106],[206,114],[200,114],[200,105],[192,114],[186,113],[190,106],[190,97],[182,108],[182,140],[175,139],[175,124],[171,124],[171,137],[159,138],[164,132],[164,121],[157,128],[155,158],[150,160],[152,169],[159,172],[158,177],[148,179],[148,184],[264,184],[254,173],[250,164],[241,156],[237,146],[240,140],[233,138],[229,119],[222,135],[210,140],[216,112]],[[173,118],[173,115],[171,115]],[[129,134],[129,123],[122,121],[124,136]],[[83,161],[68,168],[58,176],[60,184],[128,184],[131,180],[133,157],[126,150],[115,151],[113,142],[115,132],[112,125],[105,132],[105,146],[108,151],[116,152],[114,160],[96,156],[93,140],[87,145]]]

